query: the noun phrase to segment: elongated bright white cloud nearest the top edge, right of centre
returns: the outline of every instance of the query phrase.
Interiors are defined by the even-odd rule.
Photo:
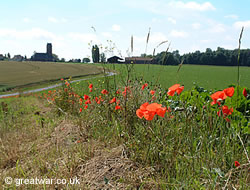
[[[193,10],[193,11],[214,11],[216,8],[210,3],[210,2],[205,2],[202,4],[196,3],[194,1],[190,2],[182,2],[182,1],[172,1],[169,3],[170,5],[182,9],[188,9],[188,10]]]

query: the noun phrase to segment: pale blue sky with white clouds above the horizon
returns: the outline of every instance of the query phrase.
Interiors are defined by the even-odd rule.
[[[106,57],[165,51],[181,54],[250,48],[249,0],[0,0],[0,54],[45,52],[59,58],[91,57],[97,44]],[[147,34],[150,28],[148,47]],[[133,36],[133,52],[131,51]]]

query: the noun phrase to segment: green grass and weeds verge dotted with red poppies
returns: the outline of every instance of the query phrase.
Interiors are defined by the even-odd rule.
[[[226,185],[246,187],[248,160],[238,135],[249,147],[249,89],[246,96],[241,87],[239,95],[231,87],[215,96],[199,86],[183,91],[141,80],[116,88],[63,82],[63,90],[45,96],[57,113],[77,116],[94,138],[124,144],[130,159],[153,167],[167,188],[221,189],[235,163],[241,172]]]

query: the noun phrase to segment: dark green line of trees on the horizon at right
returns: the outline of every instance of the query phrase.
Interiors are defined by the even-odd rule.
[[[145,55],[143,54],[145,57]],[[152,57],[152,55],[147,55]],[[205,52],[195,51],[180,55],[179,51],[161,52],[154,57],[152,64],[161,65],[178,65],[183,64],[193,65],[220,65],[220,66],[236,66],[238,65],[238,49],[226,50],[218,47],[216,51],[207,48]],[[250,49],[240,50],[240,65],[250,66]]]

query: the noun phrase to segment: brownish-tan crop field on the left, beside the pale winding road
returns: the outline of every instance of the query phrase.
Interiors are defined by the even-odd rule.
[[[85,64],[52,62],[0,62],[0,90],[61,78],[101,73],[101,68]]]

